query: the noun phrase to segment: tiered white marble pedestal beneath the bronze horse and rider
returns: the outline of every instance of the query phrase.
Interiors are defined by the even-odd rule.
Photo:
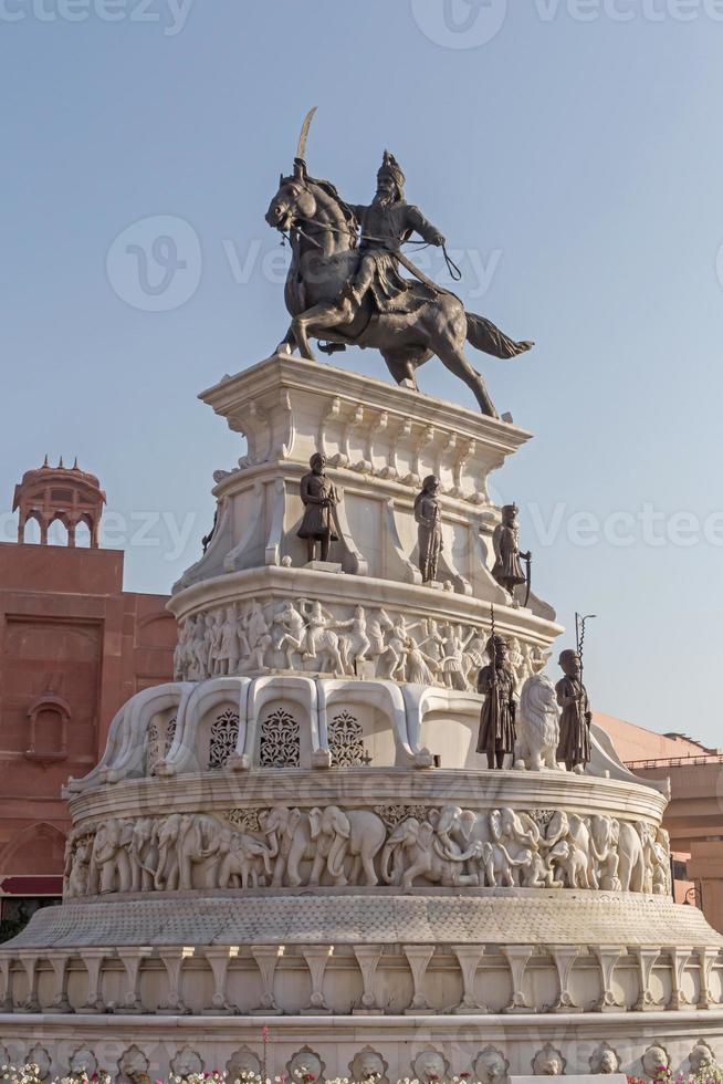
[[[332,199],[302,167],[294,207]],[[406,289],[364,259],[342,308]],[[503,1084],[723,1055],[667,783],[593,722],[583,636],[543,673],[563,629],[488,488],[530,435],[289,352],[201,399],[245,454],[169,603],[175,679],[69,781],[63,904],[0,947],[12,1057]]]

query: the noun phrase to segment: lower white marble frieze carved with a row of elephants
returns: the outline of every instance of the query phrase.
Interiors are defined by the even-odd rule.
[[[66,896],[379,883],[649,893],[669,854],[658,838],[642,822],[509,806],[279,805],[109,817],[71,834]]]

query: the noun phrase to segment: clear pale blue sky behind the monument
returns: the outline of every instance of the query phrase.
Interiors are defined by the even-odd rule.
[[[126,524],[108,541],[126,546],[128,588],[167,591],[195,559],[212,471],[243,450],[196,394],[285,329],[263,213],[318,105],[313,171],[362,201],[392,149],[408,198],[464,250],[469,306],[538,343],[475,361],[536,434],[495,479],[523,508],[535,590],[568,626],[576,608],[599,615],[595,706],[723,746],[723,4],[0,8],[1,507],[45,451],[77,455],[107,489],[108,527]],[[188,257],[176,294],[153,261],[139,292],[127,262],[127,243],[164,232],[158,216],[190,227],[171,223]],[[369,352],[340,364],[385,376]],[[421,383],[471,405],[436,361]],[[646,505],[659,521],[638,521]],[[591,544],[580,512],[600,523]],[[685,512],[700,530],[684,545]],[[169,523],[190,527],[185,546]]]

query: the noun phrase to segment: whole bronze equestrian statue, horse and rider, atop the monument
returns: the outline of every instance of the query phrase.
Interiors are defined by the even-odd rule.
[[[269,225],[287,234],[292,247],[285,286],[292,322],[279,352],[298,350],[313,361],[310,337],[326,343],[327,353],[347,345],[376,347],[395,381],[415,390],[417,369],[436,354],[472,389],[483,414],[497,417],[464,343],[502,358],[534,344],[514,342],[484,316],[465,312],[459,298],[431,282],[401,251],[412,234],[442,247],[444,238],[405,200],[405,175],[394,155],[385,152],[368,206],[346,204],[328,180],[310,177],[305,150],[313,114],[302,128],[293,175],[282,175],[266,212]],[[402,277],[400,268],[415,278]]]

